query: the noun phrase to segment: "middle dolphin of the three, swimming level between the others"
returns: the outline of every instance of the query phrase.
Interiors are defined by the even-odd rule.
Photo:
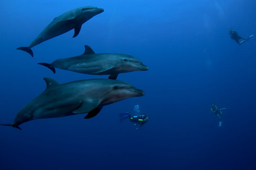
[[[99,53],[95,52],[87,45],[85,52],[82,55],[61,58],[55,60],[51,64],[38,63],[48,67],[55,73],[55,68],[79,72],[83,74],[93,75],[110,75],[109,79],[116,79],[119,73],[126,73],[137,70],[148,70],[148,67],[131,55],[113,54],[113,53]]]

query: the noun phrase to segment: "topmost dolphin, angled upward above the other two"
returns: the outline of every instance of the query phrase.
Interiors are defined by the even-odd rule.
[[[82,27],[82,24],[102,13],[102,8],[95,6],[85,6],[75,8],[68,12],[61,14],[60,16],[53,19],[53,21],[38,35],[37,38],[28,47],[19,47],[17,50],[23,50],[29,53],[33,57],[32,47],[61,34],[64,34],[72,29],[75,29],[73,37],[76,37]]]

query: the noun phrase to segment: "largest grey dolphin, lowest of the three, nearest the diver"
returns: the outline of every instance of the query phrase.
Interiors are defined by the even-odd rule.
[[[12,124],[1,125],[20,129],[20,124],[30,120],[81,113],[88,113],[85,119],[89,119],[96,116],[105,105],[144,95],[143,90],[119,80],[89,79],[64,84],[50,78],[44,80],[45,91],[20,109]]]

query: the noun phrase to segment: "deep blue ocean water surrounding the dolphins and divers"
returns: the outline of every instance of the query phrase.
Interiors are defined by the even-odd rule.
[[[0,126],[0,169],[256,169],[255,0],[1,0],[0,123],[41,94],[44,77],[60,83],[108,78],[37,63],[83,54],[123,53],[139,58],[148,71],[119,74],[143,89],[143,97],[85,114],[26,122],[22,131]],[[62,34],[32,48],[34,57],[15,50],[28,46],[54,17],[76,7],[104,12],[83,24],[80,34]],[[211,110],[223,111],[222,126]],[[136,130],[118,114],[150,116]]]

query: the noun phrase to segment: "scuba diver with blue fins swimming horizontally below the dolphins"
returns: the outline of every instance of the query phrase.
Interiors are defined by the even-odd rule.
[[[119,114],[119,117],[120,117],[119,122],[122,122],[126,118],[129,118],[129,120],[131,122],[133,122],[134,125],[140,125],[136,129],[139,129],[143,124],[145,124],[150,119],[149,117],[147,117],[145,115],[131,117],[131,113],[130,112],[121,113],[121,114]]]

